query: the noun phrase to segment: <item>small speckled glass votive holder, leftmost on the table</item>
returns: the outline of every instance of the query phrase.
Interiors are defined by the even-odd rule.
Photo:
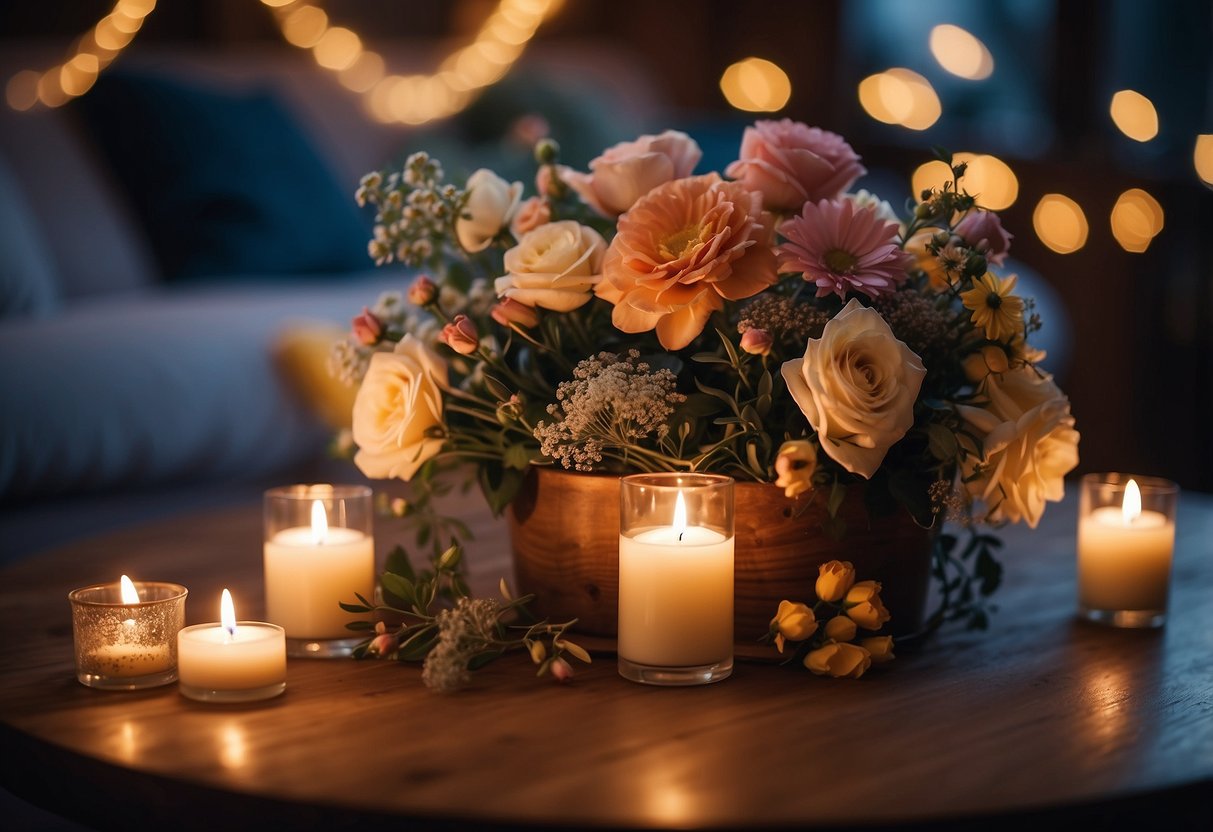
[[[135,581],[138,603],[118,582],[73,589],[76,679],[103,690],[143,690],[177,680],[177,631],[186,623],[180,583]]]

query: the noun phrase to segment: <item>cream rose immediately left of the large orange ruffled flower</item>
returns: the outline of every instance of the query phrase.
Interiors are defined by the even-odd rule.
[[[606,240],[588,226],[573,220],[540,226],[506,252],[497,296],[554,312],[576,309],[602,280],[605,252]]]

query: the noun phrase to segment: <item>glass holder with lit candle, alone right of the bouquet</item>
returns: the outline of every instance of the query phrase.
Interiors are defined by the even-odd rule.
[[[1179,486],[1157,477],[1087,474],[1078,496],[1078,614],[1112,627],[1167,620]]]

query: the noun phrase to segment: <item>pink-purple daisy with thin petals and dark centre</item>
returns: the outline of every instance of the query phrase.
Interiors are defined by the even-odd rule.
[[[913,262],[896,244],[895,223],[849,199],[805,203],[779,233],[787,240],[778,250],[779,270],[802,272],[818,285],[818,297],[887,294],[905,281]]]

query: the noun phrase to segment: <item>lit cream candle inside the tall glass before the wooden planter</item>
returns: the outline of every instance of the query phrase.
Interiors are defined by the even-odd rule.
[[[731,497],[731,480],[728,486]],[[659,684],[724,678],[733,667],[731,505],[728,523],[688,523],[679,488],[672,517],[653,525],[630,512],[627,501],[625,495],[619,541],[620,672]],[[630,525],[630,517],[639,524]]]

